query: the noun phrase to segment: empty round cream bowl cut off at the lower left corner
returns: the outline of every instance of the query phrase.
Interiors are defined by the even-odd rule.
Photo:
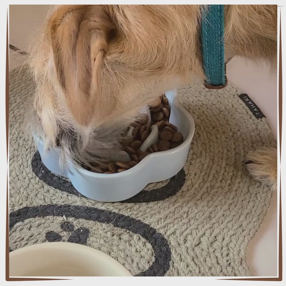
[[[9,276],[132,276],[111,256],[77,243],[48,242],[9,253]]]

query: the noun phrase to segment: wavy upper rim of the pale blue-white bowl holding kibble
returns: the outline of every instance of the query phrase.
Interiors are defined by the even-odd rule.
[[[194,119],[192,118],[191,114],[177,101],[175,103],[175,105],[178,107],[178,109],[180,110],[180,112],[184,113],[186,115],[186,117],[189,119],[189,123],[190,123],[190,128],[189,133],[186,137],[186,139],[184,140],[184,142],[182,144],[180,144],[179,146],[170,149],[170,150],[166,150],[166,151],[160,151],[160,152],[155,152],[155,153],[151,153],[148,154],[146,157],[144,157],[138,164],[136,164],[134,167],[124,171],[124,172],[120,172],[120,173],[114,173],[114,174],[103,174],[103,173],[95,173],[95,172],[91,172],[86,170],[85,168],[78,166],[76,164],[74,164],[71,160],[68,161],[67,164],[67,168],[69,169],[69,165],[71,164],[74,169],[79,172],[80,174],[87,176],[87,177],[92,177],[92,178],[117,178],[117,177],[122,177],[122,176],[128,176],[130,173],[132,172],[136,172],[137,169],[139,170],[139,168],[141,169],[141,167],[143,166],[143,164],[147,163],[147,161],[149,160],[153,160],[153,158],[157,158],[158,156],[161,156],[162,153],[164,153],[164,155],[168,155],[168,154],[172,154],[172,153],[176,153],[179,152],[179,150],[181,150],[182,148],[184,148],[186,145],[190,144],[194,133],[195,133],[195,122]],[[37,134],[34,135],[36,137],[36,139],[41,143],[44,144],[43,139],[38,136]],[[54,147],[54,150],[60,150],[59,147]]]

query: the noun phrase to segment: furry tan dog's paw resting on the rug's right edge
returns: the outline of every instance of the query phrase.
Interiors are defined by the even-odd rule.
[[[277,149],[262,147],[250,151],[245,166],[251,176],[277,191]]]

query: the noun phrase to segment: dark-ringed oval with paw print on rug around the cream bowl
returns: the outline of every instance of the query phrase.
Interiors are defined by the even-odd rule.
[[[164,276],[171,248],[160,231],[143,221],[87,206],[40,205],[9,215],[10,251],[46,242],[70,242],[98,249],[134,276]]]

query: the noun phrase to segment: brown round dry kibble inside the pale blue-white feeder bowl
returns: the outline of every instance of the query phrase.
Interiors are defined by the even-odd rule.
[[[148,124],[148,115],[142,114],[140,119],[133,122],[130,126],[134,129],[131,137],[123,137],[120,139],[122,150],[127,152],[131,161],[122,162],[105,162],[91,164],[92,168],[86,167],[86,169],[95,173],[114,174],[124,172],[136,164],[138,164],[147,155],[170,150],[179,146],[183,142],[183,135],[178,132],[178,128],[172,123],[169,123],[170,107],[168,99],[165,95],[162,95],[158,99],[154,100],[149,105],[151,114],[151,124]],[[146,140],[151,132],[152,125],[158,126],[158,143],[152,144],[147,148],[146,152],[142,152],[139,148]],[[126,135],[126,134],[125,134]]]

